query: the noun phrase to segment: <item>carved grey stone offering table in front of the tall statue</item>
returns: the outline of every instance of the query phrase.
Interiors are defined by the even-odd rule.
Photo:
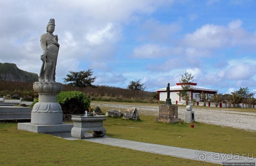
[[[93,131],[93,136],[103,137],[106,134],[106,129],[103,127],[103,121],[106,116],[72,116],[74,127],[71,130],[71,136],[74,138],[83,139],[84,134]]]

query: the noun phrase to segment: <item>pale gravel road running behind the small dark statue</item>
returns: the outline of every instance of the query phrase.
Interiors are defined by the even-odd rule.
[[[158,116],[159,113],[159,106],[101,103],[91,103],[91,105],[99,107],[111,107],[115,110],[135,107],[139,111],[139,115]],[[185,108],[179,107],[179,118],[184,119],[184,113],[186,111],[187,110]],[[248,131],[256,131],[256,113],[201,108],[194,108],[193,111],[195,111],[196,122],[204,122],[218,126],[234,127]]]

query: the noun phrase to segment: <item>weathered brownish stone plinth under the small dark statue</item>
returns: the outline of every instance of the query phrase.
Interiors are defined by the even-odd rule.
[[[178,105],[159,105],[159,118],[156,118],[156,121],[164,123],[181,122],[181,118],[178,118]]]

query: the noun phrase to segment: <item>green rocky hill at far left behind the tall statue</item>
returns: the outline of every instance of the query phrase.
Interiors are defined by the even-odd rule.
[[[36,82],[38,77],[36,73],[30,73],[17,68],[14,63],[0,63],[0,80]]]

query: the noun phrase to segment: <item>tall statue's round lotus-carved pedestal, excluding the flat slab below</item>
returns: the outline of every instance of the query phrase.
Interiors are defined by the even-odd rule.
[[[39,95],[39,102],[31,111],[31,124],[62,124],[62,109],[56,103],[56,96],[62,91],[62,83],[35,82],[33,88]]]

